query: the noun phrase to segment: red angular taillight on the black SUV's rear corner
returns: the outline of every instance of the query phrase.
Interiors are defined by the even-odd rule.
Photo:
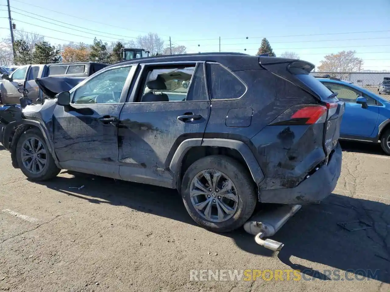
[[[334,112],[331,114],[331,111]],[[335,114],[336,111],[337,103],[326,103],[324,105],[296,104],[273,120],[270,125],[312,125],[324,123],[326,118]]]

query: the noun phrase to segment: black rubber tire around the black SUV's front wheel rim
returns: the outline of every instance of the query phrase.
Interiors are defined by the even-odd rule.
[[[46,150],[46,165],[44,166],[43,171],[38,174],[30,172],[23,164],[21,158],[21,147],[23,142],[30,137],[39,139]],[[51,156],[48,146],[46,145],[45,139],[38,128],[30,128],[20,135],[18,143],[16,144],[16,160],[18,161],[18,165],[23,174],[33,181],[45,181],[54,178],[61,171],[61,169],[55,165],[54,159]]]

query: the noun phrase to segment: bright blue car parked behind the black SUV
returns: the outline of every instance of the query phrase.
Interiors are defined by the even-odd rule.
[[[318,78],[345,102],[340,138],[380,143],[390,155],[390,102],[372,91],[337,78]]]

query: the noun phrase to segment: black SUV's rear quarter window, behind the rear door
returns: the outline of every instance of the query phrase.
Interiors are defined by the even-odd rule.
[[[211,99],[238,99],[246,91],[245,84],[220,64],[208,63],[207,76]]]

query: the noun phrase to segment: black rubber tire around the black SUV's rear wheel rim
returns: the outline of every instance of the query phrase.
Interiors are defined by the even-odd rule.
[[[194,208],[190,197],[191,181],[199,172],[212,169],[223,172],[233,182],[238,195],[238,206],[234,215],[223,222],[212,222],[202,217]],[[181,195],[191,218],[200,226],[213,232],[229,232],[241,227],[252,216],[257,195],[254,182],[248,171],[237,160],[223,155],[200,158],[188,167],[182,180]]]

